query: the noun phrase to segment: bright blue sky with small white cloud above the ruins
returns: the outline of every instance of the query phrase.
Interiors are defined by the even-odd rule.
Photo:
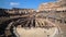
[[[0,0],[0,8],[37,9],[38,5],[43,2],[54,2],[54,1],[56,0]]]

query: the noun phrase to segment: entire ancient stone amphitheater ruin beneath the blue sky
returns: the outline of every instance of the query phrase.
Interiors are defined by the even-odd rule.
[[[64,1],[42,3],[36,11],[18,8],[0,9],[2,14],[8,15],[0,17],[0,22],[4,20],[0,24],[0,37],[66,37]]]

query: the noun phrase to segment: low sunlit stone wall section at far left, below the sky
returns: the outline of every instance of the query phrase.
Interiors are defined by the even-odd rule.
[[[7,12],[10,14],[22,14],[22,13],[32,13],[35,10],[33,9],[9,9]]]

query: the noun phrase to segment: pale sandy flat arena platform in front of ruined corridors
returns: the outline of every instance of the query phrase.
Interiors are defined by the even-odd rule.
[[[58,34],[58,29],[56,27],[45,29],[45,28],[16,28],[14,34],[18,37],[54,37]]]

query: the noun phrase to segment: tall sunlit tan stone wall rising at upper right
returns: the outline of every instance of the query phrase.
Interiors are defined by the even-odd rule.
[[[48,2],[48,3],[41,3],[38,7],[38,11],[65,11],[66,10],[66,2],[65,0],[56,1],[56,2]]]

